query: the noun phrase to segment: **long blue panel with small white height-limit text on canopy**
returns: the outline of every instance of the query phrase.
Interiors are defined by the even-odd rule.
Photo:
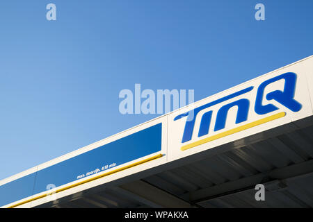
[[[158,123],[0,186],[0,205],[39,194],[51,189],[51,185],[59,187],[161,151],[161,124]]]

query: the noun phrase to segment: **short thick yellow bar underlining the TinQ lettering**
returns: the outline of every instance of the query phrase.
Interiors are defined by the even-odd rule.
[[[259,119],[259,120],[257,120],[257,121],[252,122],[252,123],[248,123],[248,124],[246,124],[246,125],[239,126],[239,127],[237,127],[237,128],[233,128],[233,129],[231,129],[231,130],[227,130],[227,131],[225,131],[225,132],[223,132],[223,133],[218,133],[218,134],[216,134],[216,135],[214,135],[214,136],[201,139],[201,140],[199,140],[199,141],[197,141],[197,142],[193,142],[193,143],[191,143],[191,144],[187,144],[187,145],[185,145],[185,146],[182,146],[180,149],[181,149],[182,151],[186,151],[186,150],[188,150],[188,148],[193,148],[193,147],[195,147],[195,146],[199,146],[199,145],[205,144],[205,143],[207,143],[207,142],[211,142],[212,140],[220,139],[220,138],[222,138],[222,137],[226,137],[227,135],[232,135],[232,134],[234,134],[234,133],[238,133],[238,132],[240,132],[240,131],[242,131],[242,130],[247,130],[248,128],[252,128],[252,127],[261,125],[261,124],[263,124],[263,123],[267,123],[267,122],[269,122],[269,121],[272,121],[272,120],[274,120],[274,119],[278,119],[278,118],[284,117],[285,115],[286,115],[285,112],[279,112],[278,114],[273,114],[273,115],[270,116],[270,117],[265,117],[265,118],[263,118],[263,119]]]

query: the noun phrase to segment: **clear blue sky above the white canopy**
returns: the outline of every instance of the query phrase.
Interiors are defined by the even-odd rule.
[[[0,179],[157,117],[120,114],[118,94],[135,83],[195,89],[198,101],[311,56],[312,10],[312,0],[2,0]]]

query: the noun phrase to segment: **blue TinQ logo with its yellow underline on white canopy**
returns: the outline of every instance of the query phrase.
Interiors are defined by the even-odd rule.
[[[265,88],[267,85],[270,85],[271,83],[275,83],[279,80],[284,80],[284,89],[281,90],[274,90],[272,92],[267,92],[266,95],[264,95]],[[182,136],[182,144],[190,141],[193,136],[193,130],[195,128],[195,121],[197,118],[201,118],[200,121],[200,128],[198,131],[198,137],[202,137],[204,135],[209,134],[209,126],[211,123],[212,116],[214,112],[216,112],[216,121],[214,126],[214,132],[218,132],[219,130],[223,130],[225,128],[225,122],[227,119],[227,113],[230,108],[233,108],[236,106],[237,114],[236,114],[236,124],[243,123],[244,121],[248,120],[248,112],[250,110],[250,101],[249,99],[238,99],[236,101],[233,101],[231,103],[228,103],[226,105],[223,105],[218,110],[215,110],[214,108],[212,110],[209,110],[207,112],[201,112],[200,111],[210,108],[211,106],[214,106],[218,103],[222,103],[225,101],[228,101],[230,99],[233,99],[237,96],[241,96],[243,94],[248,94],[253,89],[253,86],[247,87],[246,89],[242,89],[238,92],[234,92],[233,94],[230,94],[228,96],[224,96],[223,98],[217,99],[216,101],[212,101],[210,103],[207,103],[205,105],[202,105],[198,108],[195,108],[193,110],[190,110],[184,114],[179,114],[177,117],[174,118],[174,121],[177,121],[178,119],[181,119],[183,117],[186,118],[185,128],[184,128],[184,134]],[[263,83],[259,85],[257,88],[257,95],[255,98],[255,107],[254,112],[259,115],[268,114],[270,112],[273,112],[275,110],[279,110],[279,108],[272,103],[269,103],[267,105],[263,105],[262,101],[264,100],[264,96],[268,101],[277,101],[284,107],[288,108],[292,112],[298,112],[302,105],[294,99],[296,89],[296,74],[293,72],[288,72],[285,74],[281,74],[280,76],[276,76],[274,78],[265,80]],[[198,140],[196,142],[193,142],[191,144],[186,144],[182,146],[181,150],[184,151],[188,148],[193,148],[195,146],[199,146],[201,144],[210,142],[214,139],[219,139],[221,137],[225,137],[227,135],[231,135],[234,133],[238,133],[242,130],[246,130],[248,128],[252,128],[254,126],[258,126],[262,123],[266,123],[268,121],[272,121],[274,119],[278,119],[281,117],[284,117],[286,115],[285,112],[278,112],[276,114],[273,114],[269,117],[265,117],[263,119],[258,119],[257,121],[252,121],[250,123],[247,123],[246,125],[239,126],[236,128],[232,128],[230,130],[224,131],[223,133],[217,133],[211,137],[206,137],[204,139]],[[200,116],[200,117],[199,117]]]

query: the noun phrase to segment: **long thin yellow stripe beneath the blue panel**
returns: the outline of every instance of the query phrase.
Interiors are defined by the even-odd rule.
[[[154,155],[154,156],[149,157],[149,158],[147,158],[147,159],[145,159],[145,160],[141,160],[141,161],[138,161],[138,162],[134,162],[133,164],[129,164],[129,165],[125,166],[125,167],[121,167],[121,168],[119,168],[119,169],[115,169],[115,170],[113,170],[113,171],[109,171],[109,172],[104,173],[104,174],[101,174],[101,175],[99,175],[99,176],[95,176],[94,178],[90,178],[90,179],[88,179],[88,180],[83,180],[83,181],[81,181],[81,182],[74,183],[74,184],[69,185],[69,186],[67,186],[67,187],[63,187],[63,188],[61,188],[61,189],[57,189],[57,190],[54,191],[54,192],[51,192],[51,193],[48,193],[48,194],[42,194],[42,195],[40,195],[40,196],[36,196],[36,197],[34,197],[34,198],[31,198],[31,199],[29,199],[29,200],[24,200],[24,201],[22,201],[22,202],[20,202],[20,203],[16,203],[15,205],[11,205],[11,206],[8,207],[8,208],[17,207],[17,206],[19,206],[19,205],[23,205],[23,204],[25,204],[25,203],[29,203],[29,202],[31,202],[31,201],[33,201],[33,200],[38,200],[38,199],[43,198],[43,197],[45,197],[45,196],[49,196],[49,195],[51,195],[51,194],[56,194],[56,193],[58,193],[58,192],[64,191],[65,189],[70,189],[70,188],[72,188],[72,187],[77,187],[77,186],[82,185],[82,184],[84,184],[84,183],[86,183],[86,182],[90,182],[90,181],[93,181],[93,180],[97,180],[97,179],[99,179],[99,178],[103,178],[104,176],[109,176],[109,175],[111,175],[111,174],[113,174],[113,173],[117,173],[117,172],[119,172],[119,171],[123,171],[123,170],[129,169],[129,168],[131,168],[131,167],[135,167],[135,166],[137,166],[137,165],[139,165],[139,164],[143,164],[143,163],[145,163],[145,162],[149,162],[149,161],[151,161],[151,160],[155,160],[155,159],[157,159],[157,158],[159,158],[159,157],[162,157],[162,156],[163,156],[163,155],[162,155],[161,153],[158,154],[158,155]]]

